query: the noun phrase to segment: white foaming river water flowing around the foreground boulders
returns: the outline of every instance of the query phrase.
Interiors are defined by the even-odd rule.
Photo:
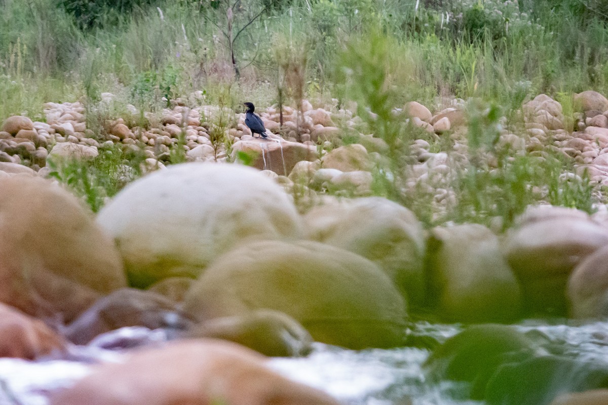
[[[573,359],[608,364],[608,322],[548,325],[523,322],[521,332],[536,331]],[[460,332],[460,325],[418,322],[416,333],[439,342]],[[67,358],[30,362],[0,359],[1,405],[46,405],[53,390],[68,387],[85,376],[95,361],[121,361],[117,347],[157,344],[167,339],[162,330],[122,328],[98,336],[87,346],[74,346]],[[274,358],[271,367],[282,375],[325,390],[345,405],[482,405],[463,398],[465,383],[427,381],[423,363],[430,352],[404,347],[391,350],[345,350],[315,344],[306,358]],[[564,381],[576,375],[562,376]]]

